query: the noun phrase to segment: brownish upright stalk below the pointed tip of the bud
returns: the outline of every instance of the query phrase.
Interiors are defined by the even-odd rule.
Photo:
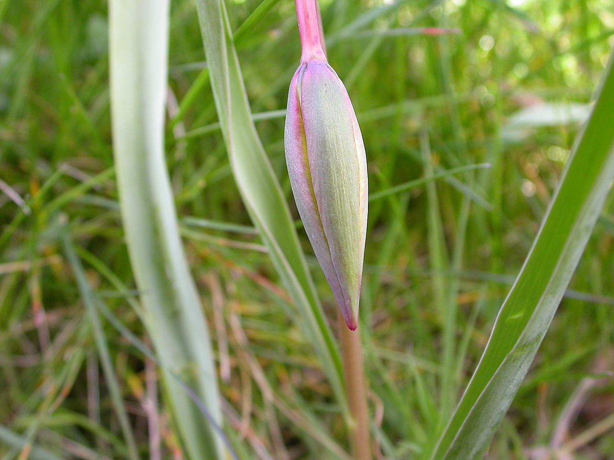
[[[343,370],[348,391],[349,412],[352,416],[349,426],[349,440],[354,460],[371,460],[371,435],[369,430],[369,408],[367,405],[367,381],[362,362],[362,342],[359,330],[351,331],[346,326],[341,310],[337,310],[339,340],[343,357]]]

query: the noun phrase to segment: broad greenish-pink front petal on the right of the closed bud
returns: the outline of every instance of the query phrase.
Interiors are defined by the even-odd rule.
[[[307,64],[301,113],[314,196],[333,270],[324,274],[350,329],[356,329],[366,235],[367,177],[362,137],[348,93],[322,61]]]

